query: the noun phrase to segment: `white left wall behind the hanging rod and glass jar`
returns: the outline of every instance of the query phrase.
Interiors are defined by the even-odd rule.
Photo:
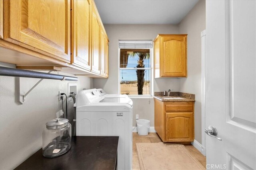
[[[14,64],[0,65],[15,68]],[[78,91],[92,88],[92,78],[78,78],[78,82],[45,79],[30,92],[26,104],[20,104],[16,97],[18,78],[0,76],[0,169],[15,168],[42,147],[45,123],[56,118],[56,112],[62,108],[58,91],[68,94],[68,83],[77,83]],[[39,80],[25,79],[31,86]],[[72,120],[73,101],[68,102],[68,115]]]

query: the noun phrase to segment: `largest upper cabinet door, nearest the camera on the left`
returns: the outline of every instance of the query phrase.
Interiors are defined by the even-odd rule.
[[[18,42],[20,46],[50,53],[70,63],[70,0],[10,0],[5,3],[5,12],[9,13],[8,20],[4,21],[9,27],[4,37],[6,41]]]

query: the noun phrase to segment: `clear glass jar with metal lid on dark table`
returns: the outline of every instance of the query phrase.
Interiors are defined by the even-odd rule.
[[[71,124],[68,119],[56,118],[46,123],[43,131],[43,156],[54,158],[71,148]]]

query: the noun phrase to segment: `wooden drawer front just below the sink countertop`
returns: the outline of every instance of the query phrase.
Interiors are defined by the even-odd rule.
[[[165,111],[193,111],[192,102],[168,102],[164,106]]]

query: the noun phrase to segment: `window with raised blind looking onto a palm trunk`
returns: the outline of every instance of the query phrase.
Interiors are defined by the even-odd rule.
[[[152,41],[119,41],[120,94],[151,95]]]

